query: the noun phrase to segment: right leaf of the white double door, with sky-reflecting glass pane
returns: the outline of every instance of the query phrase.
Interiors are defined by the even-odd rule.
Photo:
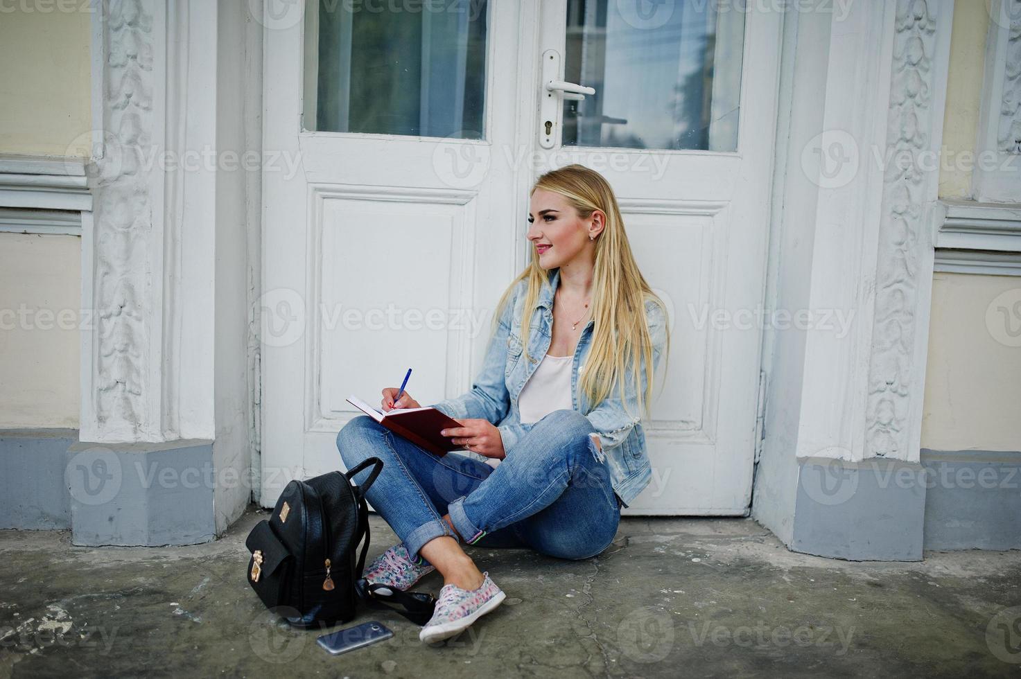
[[[782,21],[739,4],[541,6],[539,79],[595,93],[540,91],[539,153],[606,177],[672,307],[669,366],[643,423],[652,481],[626,515],[750,505]]]

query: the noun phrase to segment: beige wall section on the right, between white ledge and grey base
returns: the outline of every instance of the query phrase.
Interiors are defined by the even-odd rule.
[[[1021,333],[1021,313],[1014,300],[1021,303],[1016,276],[933,276],[923,448],[1021,450],[1021,346],[1011,341]]]

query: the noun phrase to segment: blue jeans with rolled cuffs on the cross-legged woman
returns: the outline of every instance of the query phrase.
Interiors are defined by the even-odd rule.
[[[435,537],[458,539],[445,514],[468,544],[594,556],[610,546],[621,520],[610,470],[588,436],[595,429],[567,409],[530,427],[495,469],[455,452],[435,455],[367,415],[344,425],[337,448],[348,469],[367,457],[383,460],[366,497],[411,559]]]

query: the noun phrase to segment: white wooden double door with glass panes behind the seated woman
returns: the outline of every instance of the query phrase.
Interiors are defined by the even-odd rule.
[[[667,388],[646,426],[653,481],[625,512],[745,512],[760,333],[697,317],[762,299],[779,20],[718,20],[716,3],[693,3],[713,17],[677,31],[683,3],[661,3],[680,14],[659,26],[654,13],[628,14],[631,3],[585,4],[451,0],[366,12],[323,0],[305,3],[300,21],[268,17],[263,151],[300,162],[263,169],[263,505],[292,478],[343,467],[334,441],[356,415],[349,394],[378,400],[407,368],[423,403],[471,388],[493,306],[529,256],[528,189],[579,161],[614,185],[639,263],[674,312]],[[587,30],[585,16],[606,25]],[[662,125],[615,119],[625,116],[612,106],[631,96],[621,85],[648,61],[615,72],[597,53],[620,55],[615,36],[634,40],[633,30],[643,45],[672,45],[673,82],[648,83],[652,97],[683,87],[678,74],[691,63],[704,75],[706,59],[685,56],[699,49],[691,40],[725,43],[711,50],[724,62],[703,79],[707,103],[679,106],[687,112],[676,127],[688,130],[679,148],[661,148],[671,137]],[[557,100],[549,130],[548,50],[566,74],[601,79],[594,96],[569,101],[577,110]],[[594,119],[593,104],[606,117],[578,126]],[[713,123],[692,132],[690,111]],[[603,123],[649,147],[613,147],[621,138],[599,132]],[[698,144],[707,148],[690,148]]]

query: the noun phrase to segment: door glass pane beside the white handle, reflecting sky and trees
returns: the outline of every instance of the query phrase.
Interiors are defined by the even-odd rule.
[[[568,0],[565,146],[737,150],[743,2]]]

